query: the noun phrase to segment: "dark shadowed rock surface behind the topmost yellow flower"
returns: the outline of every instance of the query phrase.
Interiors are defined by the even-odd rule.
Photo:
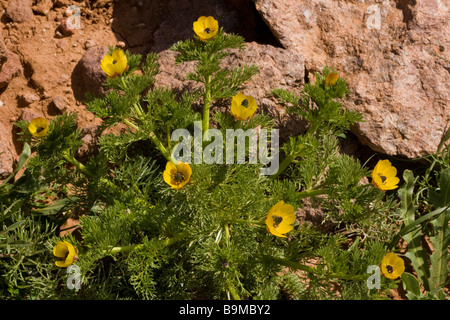
[[[213,16],[227,33],[247,42],[280,47],[251,0],[120,1],[115,3],[112,29],[133,53],[161,52],[192,38],[192,24],[200,16]]]

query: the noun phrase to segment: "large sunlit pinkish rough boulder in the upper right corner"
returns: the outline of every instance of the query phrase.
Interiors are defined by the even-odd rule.
[[[361,142],[409,158],[436,151],[450,120],[450,66],[436,56],[450,47],[448,4],[253,2],[283,47],[305,57],[307,76],[328,65],[347,79],[344,106],[365,118],[352,128]]]

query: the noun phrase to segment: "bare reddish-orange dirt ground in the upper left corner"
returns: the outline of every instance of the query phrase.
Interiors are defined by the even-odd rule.
[[[33,7],[33,18],[21,23],[5,14],[9,2],[0,1],[1,31],[6,48],[19,56],[23,73],[0,89],[0,122],[11,129],[3,138],[12,140],[20,154],[13,123],[21,117],[39,114],[52,119],[66,110],[78,113],[80,127],[96,122],[83,105],[84,88],[76,85],[79,79],[73,71],[90,47],[123,45],[123,40],[111,28],[112,0],[93,6],[88,1],[56,1],[46,14]],[[80,8],[81,28],[65,35],[61,23],[74,13],[68,11],[72,2]]]

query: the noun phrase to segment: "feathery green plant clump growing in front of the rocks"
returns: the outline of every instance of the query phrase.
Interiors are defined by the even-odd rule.
[[[308,125],[271,150],[279,166],[261,174],[268,163],[250,161],[250,136],[244,161],[221,152],[242,141],[219,139],[231,129],[277,130],[261,108],[249,120],[215,108],[230,105],[258,72],[221,64],[230,49],[244,48],[222,29],[207,41],[175,43],[180,68],[195,63],[186,80],[198,89],[185,92],[155,86],[156,54],[125,51],[127,70],[108,78],[106,95],[86,99],[103,122],[98,151],[84,162],[76,114],[55,117],[42,138],[16,123],[23,153],[0,185],[1,299],[389,299],[396,288],[408,299],[446,298],[449,134],[436,154],[415,162],[414,174],[403,171],[397,190],[381,190],[368,182],[373,168],[340,152],[363,117],[342,107],[346,80],[325,67],[300,93],[268,92]],[[118,125],[127,129],[105,132]],[[180,153],[177,129],[193,137],[182,152],[191,171],[178,175],[166,171]],[[187,183],[176,188],[177,179]],[[271,211],[280,201],[295,215],[284,237],[273,233],[285,219]],[[61,230],[68,220],[75,225]],[[76,249],[70,267],[55,265],[61,241]],[[405,263],[397,279],[377,269],[388,252]]]

